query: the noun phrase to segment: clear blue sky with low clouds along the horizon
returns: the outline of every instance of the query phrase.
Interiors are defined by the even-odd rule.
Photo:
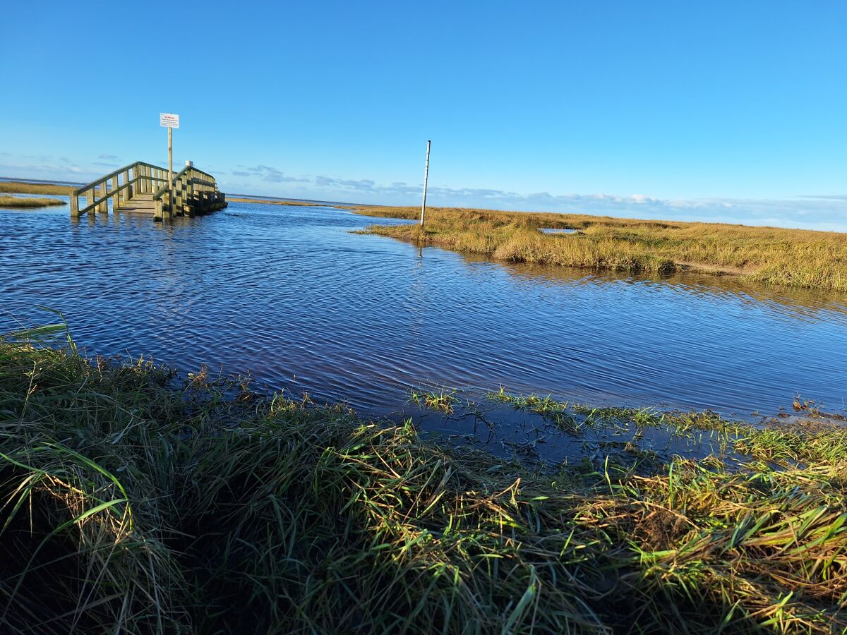
[[[204,7],[197,11],[197,7]],[[0,175],[847,230],[847,3],[11,3]],[[166,28],[166,25],[170,25]]]

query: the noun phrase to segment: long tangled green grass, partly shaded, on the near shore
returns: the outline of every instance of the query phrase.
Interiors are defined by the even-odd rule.
[[[56,336],[0,340],[0,631],[847,628],[843,430],[781,470],[533,472]]]

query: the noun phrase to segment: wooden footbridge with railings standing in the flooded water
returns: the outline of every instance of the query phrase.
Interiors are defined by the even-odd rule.
[[[84,205],[80,204],[84,198]],[[168,168],[136,161],[83,185],[70,194],[70,215],[113,212],[152,214],[155,220],[195,216],[226,207],[226,196],[211,174],[186,165],[168,182]]]

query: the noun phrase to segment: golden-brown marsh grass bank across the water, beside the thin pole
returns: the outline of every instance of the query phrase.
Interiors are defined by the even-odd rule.
[[[357,207],[356,212],[420,216],[420,209],[413,207]],[[578,233],[544,235],[540,228]],[[847,234],[447,208],[428,210],[424,230],[417,225],[374,225],[368,231],[506,262],[632,272],[692,269],[767,284],[847,291]]]

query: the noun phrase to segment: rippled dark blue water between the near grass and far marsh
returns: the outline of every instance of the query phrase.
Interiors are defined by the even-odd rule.
[[[695,274],[507,266],[387,238],[329,207],[211,216],[0,210],[0,331],[64,312],[89,353],[251,372],[380,411],[408,386],[772,413],[847,401],[847,297]]]

